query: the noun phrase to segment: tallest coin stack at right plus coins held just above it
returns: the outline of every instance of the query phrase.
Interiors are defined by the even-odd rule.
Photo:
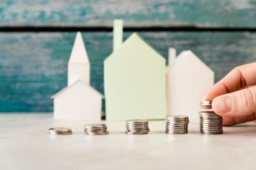
[[[201,101],[201,106],[211,106],[211,101]],[[221,134],[222,116],[217,115],[214,111],[200,111],[200,132],[206,134]]]

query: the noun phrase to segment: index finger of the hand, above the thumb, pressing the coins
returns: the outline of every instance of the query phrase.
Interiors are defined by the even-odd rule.
[[[231,70],[229,74],[213,85],[213,87],[202,96],[200,101],[212,101],[222,94],[235,92],[244,87],[253,85],[256,85],[256,62],[240,65]],[[209,109],[209,107],[203,108]]]

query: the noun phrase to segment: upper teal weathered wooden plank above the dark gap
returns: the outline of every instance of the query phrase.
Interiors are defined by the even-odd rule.
[[[256,0],[2,0],[0,26],[256,27]]]

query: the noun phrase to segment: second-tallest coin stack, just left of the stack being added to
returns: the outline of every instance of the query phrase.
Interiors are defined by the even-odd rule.
[[[165,133],[185,134],[188,133],[189,117],[182,115],[166,116]]]

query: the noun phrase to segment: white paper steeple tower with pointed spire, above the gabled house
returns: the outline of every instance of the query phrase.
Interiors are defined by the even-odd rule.
[[[77,32],[74,46],[67,64],[67,85],[83,80],[90,85],[90,61],[81,32]]]

